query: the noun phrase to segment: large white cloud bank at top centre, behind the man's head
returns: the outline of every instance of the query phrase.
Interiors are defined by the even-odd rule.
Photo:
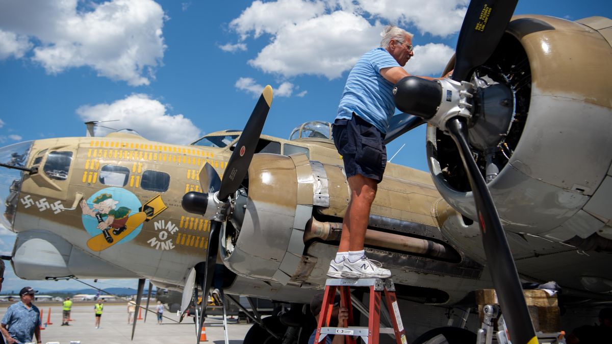
[[[321,75],[332,80],[379,46],[381,23],[412,26],[423,34],[446,37],[461,28],[467,5],[468,0],[254,1],[231,21],[230,29],[242,41],[269,35],[269,43],[248,61],[253,67],[283,78]],[[437,49],[447,59],[446,46],[428,46],[420,54],[433,60],[417,58],[414,61],[420,60],[419,64],[408,66],[417,75],[439,73],[446,65],[444,61],[438,67],[442,58],[433,56]]]

